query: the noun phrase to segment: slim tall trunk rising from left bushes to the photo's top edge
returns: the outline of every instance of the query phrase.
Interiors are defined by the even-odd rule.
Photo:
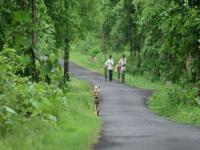
[[[32,0],[32,24],[36,24],[36,0]],[[32,58],[32,80],[36,81],[36,65],[35,65],[35,45],[36,45],[36,33],[32,31],[32,48],[31,48],[31,58]]]

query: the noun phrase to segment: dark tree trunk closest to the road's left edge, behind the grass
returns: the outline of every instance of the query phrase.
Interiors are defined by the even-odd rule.
[[[65,39],[64,49],[64,83],[69,82],[69,40]]]

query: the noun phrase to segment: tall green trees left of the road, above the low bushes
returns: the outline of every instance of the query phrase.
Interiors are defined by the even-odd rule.
[[[17,73],[50,82],[48,74],[63,54],[69,80],[70,44],[98,30],[99,2],[3,0],[0,6],[1,51],[13,48],[21,56],[24,68]]]

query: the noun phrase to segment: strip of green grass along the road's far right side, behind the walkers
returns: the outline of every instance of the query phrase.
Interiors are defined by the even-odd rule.
[[[119,60],[120,54],[112,54],[114,60]],[[101,74],[104,73],[104,57],[102,54],[97,55],[96,62],[91,62],[90,57],[86,54],[80,52],[71,53],[71,61],[79,64],[80,66],[86,67],[91,71],[96,71]],[[116,73],[114,73],[114,78],[117,79]],[[149,109],[163,117],[168,119],[200,126],[200,108],[198,106],[174,106],[170,104],[169,89],[176,85],[166,85],[163,82],[152,82],[143,76],[132,76],[126,74],[126,84],[130,86],[135,86],[143,89],[153,89],[154,93],[149,98],[147,104]]]

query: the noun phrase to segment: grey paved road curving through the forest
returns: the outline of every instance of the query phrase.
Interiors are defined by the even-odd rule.
[[[71,73],[102,88],[103,128],[96,150],[200,150],[200,129],[149,112],[150,91],[115,82],[70,64]]]

